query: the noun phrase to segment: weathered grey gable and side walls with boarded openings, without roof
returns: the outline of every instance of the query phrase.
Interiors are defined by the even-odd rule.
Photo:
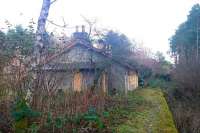
[[[99,76],[102,89],[116,89],[119,92],[127,92],[133,90],[137,86],[136,73],[128,73],[128,69],[117,62],[106,58],[100,53],[87,49],[84,46],[76,45],[70,51],[63,53],[54,59],[51,63],[91,63],[96,66],[90,68],[82,68],[80,70],[69,69],[63,72],[55,72],[56,74],[63,74],[64,79],[61,87],[63,89],[75,88],[80,91],[86,88],[91,88],[94,85],[94,80]],[[78,67],[80,68],[80,67]],[[98,68],[98,70],[96,70]],[[105,70],[106,74],[97,75],[97,71]],[[79,90],[81,86],[81,89]]]

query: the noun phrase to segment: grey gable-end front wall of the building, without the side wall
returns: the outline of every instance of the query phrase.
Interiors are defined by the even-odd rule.
[[[66,70],[66,72],[55,72],[56,74],[66,74],[64,76],[63,84],[61,84],[62,88],[75,88],[76,90],[79,90],[78,88],[80,88],[80,86],[81,90],[91,88],[94,85],[94,80],[97,76],[97,70],[94,69],[104,69],[105,66],[109,64],[108,59],[106,59],[104,55],[89,50],[84,46],[81,46],[81,44],[74,46],[71,50],[63,53],[50,62],[50,64],[54,63],[66,64],[66,66],[69,66],[68,64],[70,63],[88,63],[89,65],[90,63],[93,64],[92,67],[86,66],[86,68],[82,68],[81,70],[69,68]],[[76,66],[76,68],[79,68],[79,66]]]

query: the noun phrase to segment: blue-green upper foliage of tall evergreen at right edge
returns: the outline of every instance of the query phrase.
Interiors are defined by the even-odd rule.
[[[200,32],[200,5],[192,7],[187,20],[176,30],[175,35],[170,39],[171,52],[175,55],[191,57],[195,52],[199,54],[198,42]],[[198,53],[197,53],[198,52]]]

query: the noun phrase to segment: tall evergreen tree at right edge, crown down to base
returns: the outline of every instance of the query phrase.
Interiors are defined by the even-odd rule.
[[[170,40],[171,52],[177,57],[174,79],[183,94],[199,93],[200,83],[200,5],[192,7],[187,20],[182,23]],[[186,90],[185,90],[186,89]]]

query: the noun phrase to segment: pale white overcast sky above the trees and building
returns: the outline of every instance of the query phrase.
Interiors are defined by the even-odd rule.
[[[31,18],[37,22],[42,0],[0,0],[0,3],[3,27],[5,20],[23,25]],[[81,15],[97,19],[98,27],[120,31],[166,55],[168,39],[196,3],[200,0],[57,0],[48,19],[62,25],[63,17],[70,27],[84,24]]]

